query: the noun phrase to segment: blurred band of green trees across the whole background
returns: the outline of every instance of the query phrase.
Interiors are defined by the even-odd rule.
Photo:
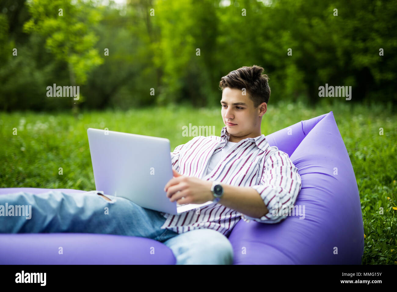
[[[0,78],[30,80],[25,79],[25,92],[17,89],[19,82],[14,90],[0,88],[0,100],[15,100],[0,104],[7,110],[29,108],[29,90],[42,109],[70,106],[70,101],[43,102],[42,85],[34,85],[41,79],[47,85],[81,85],[85,98],[79,102],[85,108],[212,106],[221,94],[220,78],[254,64],[270,76],[270,104],[341,100],[318,96],[326,83],[352,86],[352,103],[397,101],[396,1],[222,3],[130,0],[119,8],[113,1],[103,6],[86,0],[6,0],[0,4],[0,69],[12,75]],[[25,73],[13,71],[14,47],[21,52],[17,58],[33,59],[23,60],[30,66]]]

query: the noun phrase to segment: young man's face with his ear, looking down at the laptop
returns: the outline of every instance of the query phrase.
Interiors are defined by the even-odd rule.
[[[266,102],[254,108],[254,102],[241,90],[226,87],[222,93],[222,119],[230,133],[231,142],[238,142],[249,137],[258,137],[262,116],[267,110]],[[239,103],[239,104],[235,104]],[[235,124],[230,125],[228,122]]]

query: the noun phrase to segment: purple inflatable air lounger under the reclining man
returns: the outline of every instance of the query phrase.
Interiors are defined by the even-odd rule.
[[[266,135],[270,146],[289,155],[302,188],[295,202],[303,213],[276,224],[240,220],[229,241],[234,264],[360,265],[364,228],[357,182],[333,112]],[[1,188],[0,195],[50,189]],[[67,193],[81,190],[57,189]],[[270,210],[271,212],[272,210]],[[54,246],[69,251],[59,257]],[[156,255],[146,252],[154,247]],[[91,233],[0,234],[0,264],[175,264],[156,240]]]

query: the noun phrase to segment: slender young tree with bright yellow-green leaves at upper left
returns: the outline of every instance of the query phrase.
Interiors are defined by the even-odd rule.
[[[93,48],[97,37],[92,27],[100,21],[98,10],[91,7],[93,1],[82,0],[32,0],[27,2],[31,19],[24,25],[26,32],[35,32],[46,37],[48,48],[58,60],[67,63],[72,86],[83,85],[87,74],[103,63],[98,51]],[[71,99],[73,112],[77,103]]]

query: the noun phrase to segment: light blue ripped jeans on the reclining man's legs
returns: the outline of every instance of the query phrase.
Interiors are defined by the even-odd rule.
[[[0,233],[78,232],[146,237],[168,246],[177,265],[233,263],[233,248],[222,233],[196,229],[178,234],[161,229],[166,218],[160,212],[122,197],[105,196],[111,201],[96,192],[0,195],[3,206],[31,205],[30,219],[26,219],[29,214],[0,216]]]

